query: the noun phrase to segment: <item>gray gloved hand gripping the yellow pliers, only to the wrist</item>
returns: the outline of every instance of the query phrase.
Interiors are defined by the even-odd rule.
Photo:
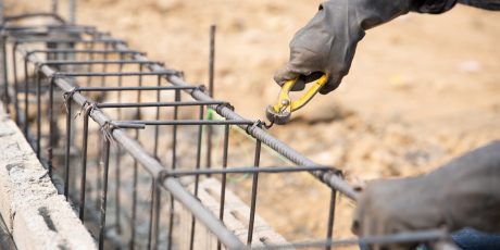
[[[289,62],[274,76],[277,84],[298,79],[292,88],[298,91],[304,89],[305,83],[326,74],[328,82],[320,89],[321,93],[339,86],[364,35],[358,22],[351,23],[357,17],[351,16],[348,5],[349,0],[336,0],[320,7],[317,14],[291,40]]]

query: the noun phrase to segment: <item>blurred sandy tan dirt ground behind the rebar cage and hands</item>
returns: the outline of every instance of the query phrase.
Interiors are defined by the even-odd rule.
[[[15,2],[25,3],[16,11],[45,8]],[[111,32],[197,84],[208,82],[209,26],[216,24],[215,96],[249,118],[263,118],[279,90],[272,76],[288,59],[288,41],[320,2],[82,0],[77,22]],[[295,122],[271,133],[315,162],[341,168],[351,183],[427,173],[500,139],[499,39],[500,13],[468,7],[397,18],[367,32],[338,90],[316,97]],[[325,196],[307,196],[305,204],[324,203]],[[302,203],[302,196],[289,197]],[[347,236],[352,205],[340,202],[336,234]],[[318,221],[314,209],[293,215]],[[286,221],[277,224],[282,234],[296,234]]]

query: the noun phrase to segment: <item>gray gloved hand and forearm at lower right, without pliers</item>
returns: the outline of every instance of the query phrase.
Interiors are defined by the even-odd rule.
[[[352,230],[368,236],[464,227],[500,233],[500,141],[428,175],[370,183]]]

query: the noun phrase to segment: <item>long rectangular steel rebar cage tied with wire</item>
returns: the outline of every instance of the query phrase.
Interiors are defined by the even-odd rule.
[[[72,24],[71,16],[70,23],[53,12],[4,17],[2,99],[100,249],[360,243],[333,240],[337,193],[357,198],[339,170],[315,164],[262,122],[186,83],[182,72],[96,27]],[[330,193],[323,233],[285,239],[257,215],[258,203],[276,192],[276,179],[304,173]],[[288,210],[296,209],[308,208]],[[442,237],[430,232],[362,242]]]

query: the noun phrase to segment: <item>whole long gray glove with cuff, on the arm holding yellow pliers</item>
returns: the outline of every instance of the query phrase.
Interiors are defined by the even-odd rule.
[[[290,59],[274,80],[299,80],[292,90],[302,90],[304,83],[318,78],[328,83],[320,90],[325,95],[336,89],[348,74],[355,47],[365,30],[386,23],[409,11],[440,13],[455,0],[329,0],[320,5],[317,14],[293,37]]]

